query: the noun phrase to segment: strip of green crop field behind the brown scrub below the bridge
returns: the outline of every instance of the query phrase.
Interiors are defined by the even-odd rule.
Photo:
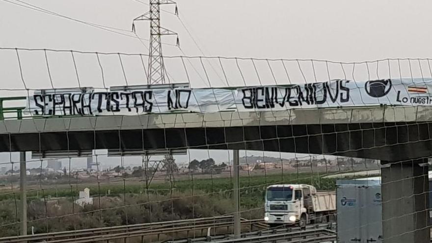
[[[209,176],[210,177],[210,176]],[[283,177],[280,174],[254,175],[240,177],[241,196],[243,198],[258,196],[257,192],[263,193],[264,189],[271,184],[310,184],[314,185],[319,190],[335,189],[335,179],[325,179],[322,176],[312,175],[311,173],[293,173]],[[59,185],[42,185],[31,188],[27,197],[29,200],[50,197],[67,197],[76,198],[78,191],[84,188],[90,189],[92,196],[124,196],[125,194],[145,194],[146,186],[144,181],[138,180],[117,180],[115,182],[94,183],[76,183],[73,180],[71,184]],[[168,181],[154,181],[150,184],[148,191],[152,194],[167,195],[170,191],[192,193],[200,191],[201,193],[217,193],[225,197],[229,197],[232,193],[232,179],[230,177],[192,179],[183,178],[175,181],[175,185],[170,187]],[[109,191],[109,193],[108,193]],[[195,194],[194,195],[198,195]],[[260,198],[262,194],[259,194]],[[19,197],[18,191],[16,194],[8,192],[0,193],[0,200]],[[257,199],[260,200],[260,199]]]

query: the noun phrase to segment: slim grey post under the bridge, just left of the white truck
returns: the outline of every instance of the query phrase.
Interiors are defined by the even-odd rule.
[[[233,180],[233,200],[234,200],[234,237],[240,238],[241,236],[241,223],[240,223],[240,172],[239,172],[239,150],[233,151],[233,168],[234,168],[234,180]]]

